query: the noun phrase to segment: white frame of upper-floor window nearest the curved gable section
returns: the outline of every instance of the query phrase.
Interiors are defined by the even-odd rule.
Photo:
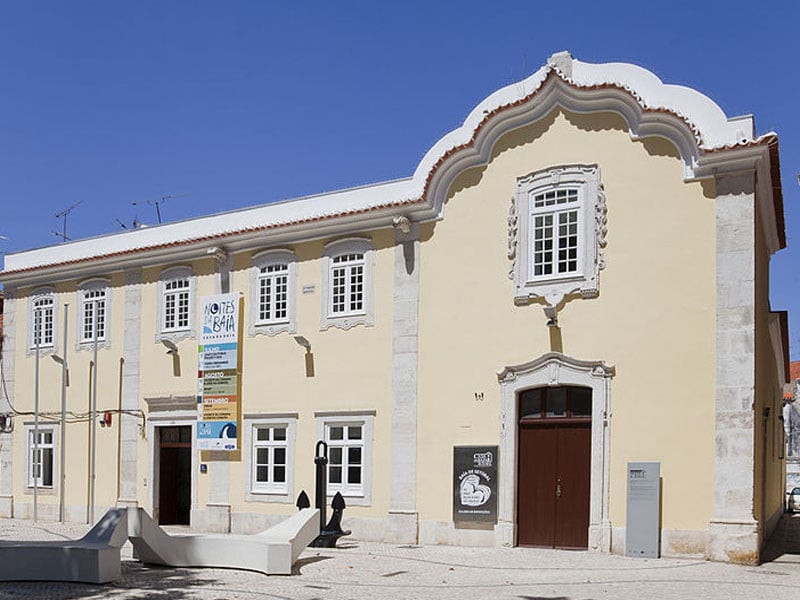
[[[337,259],[348,255],[362,255],[362,259],[337,263]],[[361,308],[335,311],[334,282],[335,270],[346,271],[346,297],[349,302],[352,293],[354,268],[361,267]],[[338,240],[325,246],[322,255],[322,323],[321,329],[325,331],[330,327],[350,329],[356,325],[372,326],[375,324],[374,315],[374,270],[375,246],[370,240],[351,238]]]

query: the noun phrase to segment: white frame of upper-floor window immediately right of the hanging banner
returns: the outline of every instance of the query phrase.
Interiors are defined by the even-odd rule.
[[[262,271],[285,265],[284,272],[264,273]],[[279,279],[286,278],[286,314],[274,315],[275,286]],[[261,315],[261,286],[269,282],[272,307],[270,315]],[[297,294],[297,258],[294,252],[286,249],[265,250],[254,255],[250,264],[250,327],[249,334],[274,336],[281,332],[295,333],[296,294]]]

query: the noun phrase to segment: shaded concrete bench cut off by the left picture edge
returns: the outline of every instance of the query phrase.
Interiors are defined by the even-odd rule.
[[[120,578],[128,511],[112,508],[79,540],[0,541],[0,581],[107,583]]]

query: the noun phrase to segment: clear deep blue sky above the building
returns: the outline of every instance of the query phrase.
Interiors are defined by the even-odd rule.
[[[73,239],[155,223],[165,196],[173,221],[409,176],[483,98],[569,50],[778,133],[772,307],[800,360],[798,34],[793,0],[0,0],[0,253],[58,243],[78,202]]]

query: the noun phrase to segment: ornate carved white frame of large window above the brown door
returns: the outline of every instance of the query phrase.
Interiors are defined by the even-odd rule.
[[[552,193],[569,202],[548,201],[537,206],[535,198]],[[574,196],[572,196],[574,194]],[[577,214],[577,253],[574,270],[558,272],[558,216]],[[535,272],[534,246],[536,219],[552,215],[552,273]],[[580,293],[584,298],[599,294],[599,273],[605,268],[606,201],[597,165],[563,165],[535,171],[517,179],[516,193],[508,218],[509,252],[513,261],[509,277],[514,280],[514,302],[528,304],[544,298],[557,306],[567,295]]]

